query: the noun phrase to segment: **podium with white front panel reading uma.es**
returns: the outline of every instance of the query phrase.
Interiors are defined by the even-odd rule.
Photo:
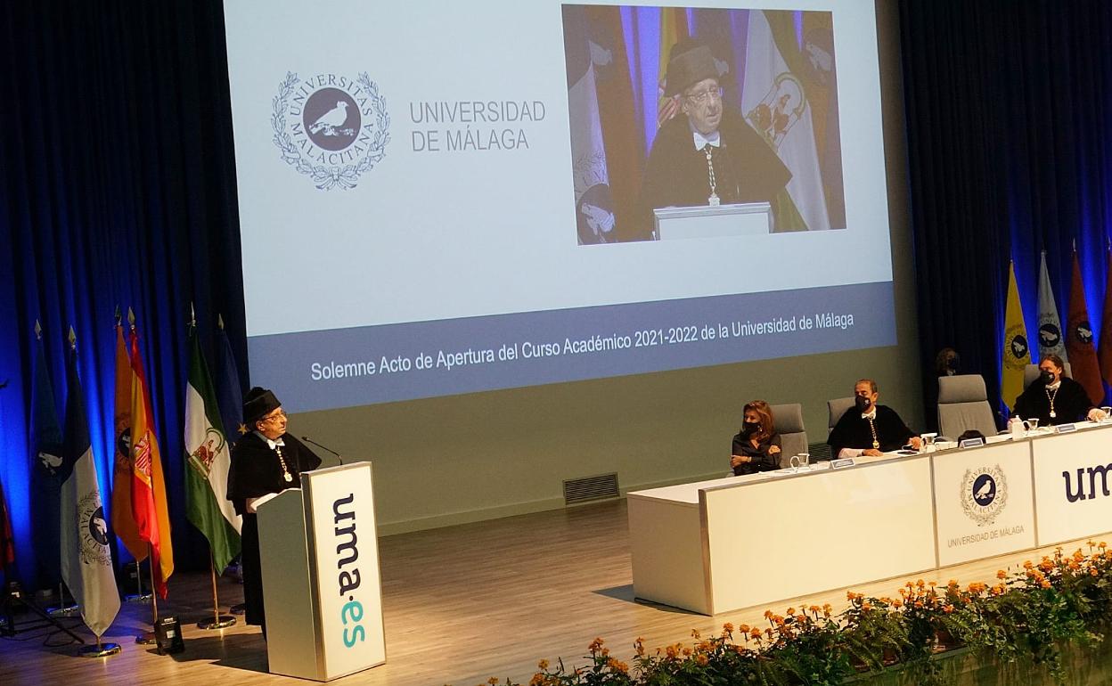
[[[370,463],[306,471],[258,516],[270,673],[328,682],[385,663]]]

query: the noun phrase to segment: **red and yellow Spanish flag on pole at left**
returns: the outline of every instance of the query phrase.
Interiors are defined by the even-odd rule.
[[[131,327],[131,511],[139,536],[150,544],[155,590],[165,598],[166,580],[173,574],[170,515],[166,507],[162,456],[155,435],[155,412],[135,327]]]

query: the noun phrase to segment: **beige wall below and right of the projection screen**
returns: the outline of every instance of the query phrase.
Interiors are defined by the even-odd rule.
[[[290,431],[348,459],[374,461],[385,535],[563,507],[569,478],[616,471],[625,491],[721,476],[746,400],[802,402],[808,439],[817,443],[825,439],[826,400],[851,395],[863,376],[877,380],[883,404],[921,429],[898,39],[890,4],[878,1],[876,10],[897,346],[307,412],[291,418]]]

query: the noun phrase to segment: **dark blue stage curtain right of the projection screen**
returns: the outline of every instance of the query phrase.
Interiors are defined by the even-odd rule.
[[[1003,410],[1010,259],[1035,332],[1039,253],[1048,251],[1064,325],[1076,241],[1100,330],[1112,223],[1112,3],[901,0],[900,33],[927,414],[934,356],[947,346],[963,371],[984,375]]]

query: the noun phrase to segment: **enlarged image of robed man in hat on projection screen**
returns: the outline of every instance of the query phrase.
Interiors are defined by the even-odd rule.
[[[677,43],[672,52],[665,95],[678,97],[684,116],[653,141],[638,207],[645,238],[655,229],[654,208],[774,202],[792,178],[741,115],[723,107],[711,49]]]

